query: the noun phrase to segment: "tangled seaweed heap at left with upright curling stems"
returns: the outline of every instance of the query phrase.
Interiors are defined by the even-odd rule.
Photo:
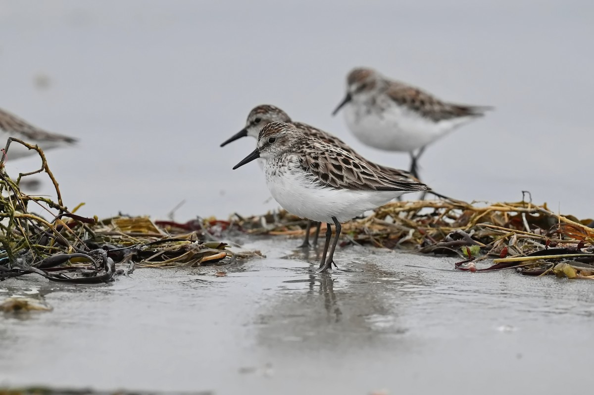
[[[11,144],[34,149],[42,160],[39,169],[13,180],[5,171]],[[46,174],[56,199],[23,193],[24,177]],[[37,273],[50,281],[99,283],[135,267],[210,265],[232,262],[249,253],[233,254],[227,244],[214,240],[210,229],[220,222],[195,219],[170,226],[168,221],[121,215],[99,220],[75,214],[62,202],[58,182],[43,151],[19,139],[8,139],[0,160],[0,281]],[[175,232],[172,232],[175,230]]]

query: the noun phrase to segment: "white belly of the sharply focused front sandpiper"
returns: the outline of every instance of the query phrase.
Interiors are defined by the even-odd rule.
[[[286,211],[301,218],[333,223],[346,222],[402,195],[400,191],[353,191],[315,187],[303,175],[290,171],[274,174],[268,166],[266,183],[270,194]]]

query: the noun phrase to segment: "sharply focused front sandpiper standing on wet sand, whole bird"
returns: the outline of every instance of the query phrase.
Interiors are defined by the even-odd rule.
[[[264,126],[257,148],[233,170],[258,158],[264,160],[268,190],[286,211],[327,223],[321,272],[331,269],[334,263],[342,222],[403,193],[428,190],[425,184],[374,168],[345,149],[306,136],[286,122]],[[326,259],[332,224],[336,236]]]

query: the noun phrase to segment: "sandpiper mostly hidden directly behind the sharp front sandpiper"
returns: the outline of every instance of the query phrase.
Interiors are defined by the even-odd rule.
[[[271,122],[292,123],[292,125],[295,126],[295,128],[297,128],[299,131],[304,133],[304,135],[311,137],[311,138],[317,138],[317,139],[320,139],[321,141],[327,142],[328,144],[337,146],[337,147],[345,150],[346,152],[348,152],[350,155],[357,158],[358,160],[364,161],[366,164],[368,164],[372,168],[375,168],[376,170],[381,170],[381,171],[393,174],[396,177],[400,177],[400,176],[407,177],[407,178],[412,177],[412,175],[410,173],[407,173],[406,171],[397,170],[395,168],[390,168],[390,167],[384,167],[384,166],[381,166],[381,165],[378,165],[375,163],[371,163],[371,162],[365,160],[365,158],[363,158],[361,155],[357,154],[352,148],[350,148],[350,146],[348,146],[345,142],[343,142],[341,139],[337,138],[336,136],[331,135],[328,132],[324,132],[324,130],[314,128],[314,126],[308,125],[307,123],[292,122],[292,120],[290,119],[289,115],[286,112],[279,109],[279,107],[272,106],[271,104],[261,104],[260,106],[254,107],[251,110],[251,112],[249,112],[249,114],[248,114],[248,119],[245,122],[245,128],[239,130],[238,133],[235,133],[235,135],[233,135],[228,140],[223,142],[221,144],[221,146],[225,146],[225,145],[229,144],[230,142],[233,142],[237,139],[240,139],[240,138],[246,137],[246,136],[251,136],[255,139],[258,139],[258,134],[260,133],[260,130],[262,130],[262,128],[264,126],[268,125],[268,123],[271,123]],[[263,164],[264,164],[263,160],[258,160],[258,162],[260,163],[261,166],[263,166]],[[309,230],[311,229],[311,225],[312,225],[312,221],[309,221],[307,224],[307,228],[305,230],[305,239],[304,239],[304,242],[301,245],[301,247],[309,246]],[[320,233],[320,225],[321,224],[319,222],[316,224],[314,240],[312,241],[312,244],[314,246],[317,244],[317,241],[318,241],[318,234]]]

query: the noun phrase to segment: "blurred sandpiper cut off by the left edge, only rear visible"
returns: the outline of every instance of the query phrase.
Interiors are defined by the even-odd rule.
[[[77,139],[72,137],[46,132],[30,125],[30,123],[14,114],[0,109],[0,141],[6,142],[9,137],[21,139],[29,144],[36,144],[43,151],[72,145],[77,142]],[[4,145],[1,148],[4,148]],[[8,151],[7,157],[9,160],[37,154],[33,149],[27,149],[21,144],[12,144]]]

